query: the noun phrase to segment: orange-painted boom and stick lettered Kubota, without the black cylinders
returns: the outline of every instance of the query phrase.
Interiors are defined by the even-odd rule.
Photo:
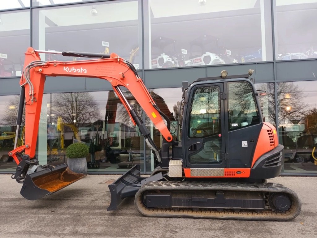
[[[24,68],[32,61],[41,60],[39,53],[32,47],[25,52]],[[25,87],[25,145],[17,147],[9,152],[17,164],[19,160],[16,153],[25,150],[30,158],[34,158],[36,150],[36,140],[41,114],[42,98],[46,76],[72,76],[86,78],[101,78],[109,81],[113,90],[117,93],[117,86],[126,87],[140,106],[159,129],[166,141],[172,141],[172,135],[166,127],[159,112],[155,109],[155,102],[146,89],[141,78],[137,77],[125,60],[112,53],[109,59],[90,59],[77,61],[43,61],[41,66],[30,69],[30,81],[33,84],[33,91],[30,91],[29,84],[26,83],[24,74],[21,77],[20,85]],[[118,94],[122,104],[126,107],[130,117],[131,114],[123,98]],[[135,122],[131,117],[134,125]]]

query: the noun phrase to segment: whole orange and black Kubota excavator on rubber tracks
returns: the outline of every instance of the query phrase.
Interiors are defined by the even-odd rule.
[[[66,164],[41,166],[35,157],[45,77],[60,75],[109,81],[159,164],[150,177],[141,177],[136,165],[109,185],[107,210],[134,196],[144,216],[286,221],[300,213],[301,201],[294,191],[266,183],[280,174],[284,147],[278,144],[274,126],[262,118],[258,93],[249,79],[252,70],[234,76],[222,71],[217,77],[183,82],[180,136],[173,137],[169,118],[131,63],[115,53],[53,52],[92,58],[77,61],[42,61],[39,53],[52,52],[29,47],[25,53],[17,117],[18,130],[25,106],[25,144],[9,153],[18,165],[12,178],[23,184],[23,197],[36,200],[85,176]],[[132,93],[161,132],[161,149],[121,87]]]

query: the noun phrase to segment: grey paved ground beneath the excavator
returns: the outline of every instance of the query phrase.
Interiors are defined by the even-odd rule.
[[[126,198],[107,211],[107,181],[119,175],[88,175],[48,197],[28,201],[21,184],[0,175],[0,237],[317,237],[316,177],[278,177],[302,201],[288,222],[144,217]]]

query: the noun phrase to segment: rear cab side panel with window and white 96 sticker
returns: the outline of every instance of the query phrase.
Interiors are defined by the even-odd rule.
[[[260,131],[263,126],[255,96],[255,88],[248,81],[226,84],[228,133],[227,167],[250,168]]]

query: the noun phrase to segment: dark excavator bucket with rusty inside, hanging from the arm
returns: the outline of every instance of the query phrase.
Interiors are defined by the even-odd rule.
[[[65,188],[86,175],[71,171],[67,164],[51,166],[50,168],[27,174],[20,193],[28,200],[37,200]]]

